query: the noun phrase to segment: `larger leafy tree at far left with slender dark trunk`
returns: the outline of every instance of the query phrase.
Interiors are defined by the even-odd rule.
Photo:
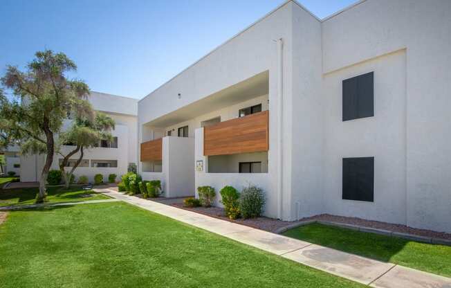
[[[46,179],[55,154],[55,134],[71,111],[86,111],[89,87],[66,78],[77,66],[64,53],[37,52],[25,72],[7,66],[1,84],[12,91],[8,100],[0,91],[0,146],[21,143],[22,154],[46,154],[39,178],[37,203],[46,199]],[[76,107],[76,108],[75,108]],[[88,109],[89,110],[89,109]]]

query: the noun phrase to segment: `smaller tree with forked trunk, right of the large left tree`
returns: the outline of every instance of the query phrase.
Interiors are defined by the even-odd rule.
[[[59,145],[64,145],[66,143],[72,143],[75,145],[73,150],[68,152],[67,154],[63,154],[59,152],[63,156],[61,163],[59,163],[59,170],[61,170],[64,186],[69,188],[71,184],[71,177],[75,169],[82,163],[84,156],[84,149],[95,147],[100,143],[101,140],[112,140],[111,129],[114,129],[115,122],[114,120],[103,114],[96,113],[94,120],[90,118],[82,118],[79,117],[73,121],[73,125],[70,129],[65,132],[62,132],[59,135]],[[69,172],[65,172],[64,168],[67,167],[69,160],[75,154],[78,154],[77,161],[75,161]]]

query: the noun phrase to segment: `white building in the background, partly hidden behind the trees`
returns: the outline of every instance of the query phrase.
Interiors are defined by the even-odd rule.
[[[104,180],[108,179],[109,174],[118,175],[127,173],[130,164],[137,164],[137,102],[133,98],[115,96],[105,93],[91,92],[89,101],[96,111],[102,111],[116,121],[116,127],[111,132],[113,141],[102,141],[99,147],[85,149],[82,163],[75,169],[75,177],[78,179],[81,175],[93,181],[95,174],[103,174]],[[66,120],[64,127],[69,127],[71,120]],[[63,128],[64,129],[64,128]],[[73,150],[71,146],[63,146],[63,154]],[[79,154],[73,156],[73,165]],[[59,169],[59,161],[62,156],[55,154],[50,169]],[[42,167],[44,165],[44,155],[21,156],[20,181],[30,182],[39,181]],[[72,164],[71,164],[72,163]]]

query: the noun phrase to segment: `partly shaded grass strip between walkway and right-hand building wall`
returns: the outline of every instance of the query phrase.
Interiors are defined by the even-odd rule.
[[[451,276],[450,246],[414,242],[317,223],[291,229],[284,235],[441,276]]]

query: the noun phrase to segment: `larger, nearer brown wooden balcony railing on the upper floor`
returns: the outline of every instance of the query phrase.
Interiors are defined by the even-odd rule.
[[[269,112],[262,111],[204,127],[203,154],[212,156],[268,151],[268,119]]]

